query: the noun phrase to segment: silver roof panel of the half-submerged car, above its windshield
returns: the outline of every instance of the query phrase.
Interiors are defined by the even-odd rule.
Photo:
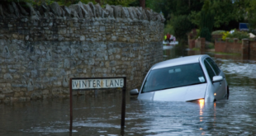
[[[207,54],[200,54],[200,55],[181,57],[177,59],[168,59],[166,61],[154,64],[154,66],[151,69],[154,70],[159,68],[167,68],[167,67],[183,65],[187,63],[199,63],[199,59],[203,59],[205,57],[209,57],[209,56]]]

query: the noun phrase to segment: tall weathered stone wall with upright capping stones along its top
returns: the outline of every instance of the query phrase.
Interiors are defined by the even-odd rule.
[[[150,10],[0,4],[0,101],[69,96],[69,77],[126,76],[128,89],[140,87],[163,60],[164,17]]]

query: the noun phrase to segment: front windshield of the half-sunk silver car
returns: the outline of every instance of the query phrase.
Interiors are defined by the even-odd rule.
[[[206,77],[200,63],[189,63],[149,72],[142,92],[164,90],[205,83]]]

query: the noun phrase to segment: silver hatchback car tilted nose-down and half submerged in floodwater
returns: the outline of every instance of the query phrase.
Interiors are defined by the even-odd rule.
[[[140,88],[139,100],[204,101],[229,99],[225,74],[209,55],[193,55],[156,63]]]

